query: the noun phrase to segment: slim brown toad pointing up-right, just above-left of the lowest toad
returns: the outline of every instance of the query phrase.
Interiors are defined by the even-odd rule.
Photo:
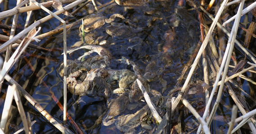
[[[129,104],[129,98],[126,93],[122,93],[116,99],[113,99],[108,103],[108,113],[102,121],[104,126],[109,126],[115,122],[114,117],[123,113]]]

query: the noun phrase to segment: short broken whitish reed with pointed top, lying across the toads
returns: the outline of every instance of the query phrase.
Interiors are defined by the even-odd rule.
[[[139,85],[139,88],[141,90],[141,92],[143,93],[144,95],[144,98],[148,104],[148,107],[149,109],[151,110],[152,114],[153,114],[153,117],[155,117],[156,121],[157,121],[157,124],[160,124],[161,121],[162,121],[162,118],[160,117],[160,115],[157,113],[157,109],[156,109],[156,106],[153,104],[153,102],[150,100],[150,97],[148,96],[148,93],[146,92],[144,86],[141,84],[140,80],[139,79],[136,79],[138,85]]]

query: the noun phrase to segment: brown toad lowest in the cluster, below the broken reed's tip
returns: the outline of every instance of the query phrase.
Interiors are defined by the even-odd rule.
[[[148,118],[149,112],[150,109],[148,108],[148,105],[146,105],[134,114],[119,117],[118,119],[121,119],[116,121],[115,124],[117,128],[123,132],[133,131],[135,127],[139,126]]]

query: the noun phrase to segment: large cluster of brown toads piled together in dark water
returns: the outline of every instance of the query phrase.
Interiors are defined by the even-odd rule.
[[[82,62],[67,60],[67,88],[75,95],[107,100],[103,126],[114,124],[126,133],[134,133],[140,125],[151,130],[153,116],[148,105],[140,101],[144,96],[136,79],[161,111],[168,87],[175,85],[167,80],[177,80],[199,41],[199,23],[187,9],[165,6],[170,4],[165,0],[116,3],[119,5],[111,4],[98,13],[86,5],[88,14],[80,26],[85,43],[80,48],[89,51],[79,58]],[[117,69],[116,64],[126,67]],[[63,77],[63,63],[58,74]],[[153,84],[157,88],[152,89]]]

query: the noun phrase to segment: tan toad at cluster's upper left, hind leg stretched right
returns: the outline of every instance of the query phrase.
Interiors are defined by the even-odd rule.
[[[83,19],[84,29],[82,29],[82,25],[80,25],[80,29],[84,30],[85,33],[89,33],[91,31],[93,31],[94,29],[102,27],[103,25],[105,25],[105,23],[111,23],[112,21],[115,20],[116,17],[119,17],[119,18],[125,20],[125,17],[123,17],[120,14],[113,14],[109,18],[106,18],[102,14],[92,13],[92,14],[87,15]]]

